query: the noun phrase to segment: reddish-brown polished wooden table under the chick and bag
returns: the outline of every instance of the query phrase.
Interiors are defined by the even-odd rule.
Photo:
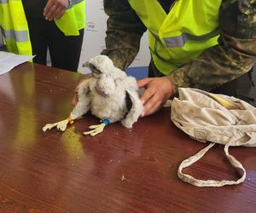
[[[230,148],[247,170],[241,185],[191,186],[177,168],[205,144],[178,130],[169,108],[132,130],[116,123],[84,136],[99,122],[87,115],[44,133],[45,123],[67,118],[82,77],[31,63],[0,76],[0,212],[256,212],[256,148]],[[185,171],[238,177],[220,145]]]

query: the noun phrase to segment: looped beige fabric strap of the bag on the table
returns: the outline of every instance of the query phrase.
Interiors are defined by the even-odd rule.
[[[242,164],[239,161],[237,161],[236,158],[234,158],[234,156],[230,155],[229,143],[225,145],[224,153],[228,158],[228,160],[230,161],[230,164],[232,164],[241,173],[241,178],[239,178],[238,180],[236,181],[206,180],[205,181],[205,180],[196,179],[195,177],[189,176],[182,172],[184,168],[188,167],[191,164],[194,164],[196,161],[202,158],[207,153],[207,151],[214,146],[214,144],[215,143],[210,143],[207,147],[201,149],[201,151],[199,151],[198,153],[195,153],[195,155],[183,160],[183,162],[178,167],[177,176],[183,181],[189,182],[190,184],[195,185],[196,187],[223,187],[225,185],[236,185],[244,181],[246,177],[246,170],[244,170]]]

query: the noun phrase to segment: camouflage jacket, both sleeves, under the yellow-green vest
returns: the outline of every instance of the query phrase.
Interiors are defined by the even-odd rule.
[[[106,49],[102,54],[108,55],[115,66],[125,70],[136,57],[140,39],[147,29],[128,0],[104,0],[104,9],[109,17]],[[218,45],[170,74],[177,87],[211,90],[253,67],[256,0],[223,0],[218,20]]]

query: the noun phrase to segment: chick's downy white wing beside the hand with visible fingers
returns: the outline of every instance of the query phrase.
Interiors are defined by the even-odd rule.
[[[126,117],[122,120],[122,124],[126,128],[131,128],[132,124],[137,122],[137,119],[140,117],[143,112],[143,103],[140,101],[137,92],[132,90],[126,90],[126,94],[129,96],[131,100],[131,109],[126,114]],[[129,108],[129,107],[128,107]]]

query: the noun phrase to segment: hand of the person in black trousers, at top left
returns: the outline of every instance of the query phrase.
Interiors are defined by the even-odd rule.
[[[48,0],[44,7],[45,20],[60,19],[68,6],[68,0]]]

